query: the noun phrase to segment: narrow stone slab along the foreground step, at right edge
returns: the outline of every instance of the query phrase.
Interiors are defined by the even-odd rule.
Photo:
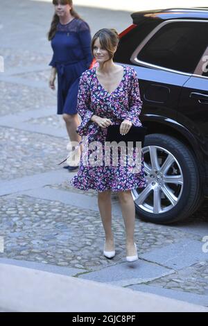
[[[208,295],[199,295],[184,291],[175,291],[171,289],[164,289],[159,286],[150,286],[144,284],[135,284],[132,286],[128,286],[128,289],[132,289],[134,291],[141,291],[145,293],[153,293],[157,295],[162,295],[166,298],[181,300],[185,302],[190,302],[194,304],[200,304],[208,307]]]

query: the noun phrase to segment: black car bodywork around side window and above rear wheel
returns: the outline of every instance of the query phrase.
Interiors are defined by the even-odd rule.
[[[148,132],[173,135],[189,146],[198,159],[202,187],[208,196],[208,76],[132,63],[134,51],[160,24],[176,19],[208,22],[208,8],[135,12],[132,19],[137,26],[121,37],[115,61],[137,71],[143,101],[141,121]]]

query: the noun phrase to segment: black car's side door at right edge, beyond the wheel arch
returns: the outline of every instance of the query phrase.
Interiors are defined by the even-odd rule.
[[[207,31],[208,34],[208,23]],[[208,175],[208,40],[194,74],[182,87],[177,121],[186,126],[199,144],[200,161],[205,164]]]

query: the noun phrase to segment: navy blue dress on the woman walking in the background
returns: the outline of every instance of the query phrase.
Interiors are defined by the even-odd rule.
[[[58,23],[51,40],[53,58],[49,65],[58,72],[58,114],[76,114],[78,83],[92,62],[89,26],[74,18],[69,24]]]

